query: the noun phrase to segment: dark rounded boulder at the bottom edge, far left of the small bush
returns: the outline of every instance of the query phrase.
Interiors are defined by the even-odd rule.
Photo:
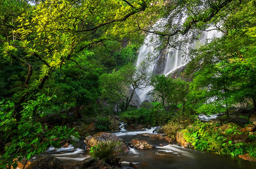
[[[56,169],[60,168],[62,163],[58,158],[45,156],[33,161],[27,169]]]

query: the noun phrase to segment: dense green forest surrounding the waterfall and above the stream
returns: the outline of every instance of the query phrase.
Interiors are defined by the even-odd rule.
[[[255,114],[255,0],[4,0],[0,9],[2,167],[71,135],[86,136],[91,123],[110,131],[121,121],[174,125],[181,117],[224,113],[229,122],[237,108]],[[181,11],[184,23],[173,23]],[[156,25],[163,17],[169,23]],[[151,74],[146,62],[134,66],[148,33],[157,34],[161,51],[208,28],[223,36],[187,49],[178,78]],[[155,100],[134,107],[135,90],[145,85],[154,87]]]

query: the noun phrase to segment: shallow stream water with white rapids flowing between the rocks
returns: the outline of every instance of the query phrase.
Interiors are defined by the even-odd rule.
[[[255,162],[244,161],[238,157],[231,155],[220,155],[207,152],[199,152],[198,150],[183,148],[178,145],[168,145],[168,142],[157,140],[137,134],[151,133],[156,127],[150,130],[143,131],[126,131],[125,124],[121,124],[121,130],[114,132],[118,137],[123,139],[128,144],[134,138],[147,141],[148,143],[156,146],[156,149],[133,149],[130,148],[129,152],[121,158],[122,168],[131,168],[129,163],[136,164],[139,168],[256,168]],[[156,134],[156,133],[155,133]],[[160,146],[163,144],[164,146]],[[65,163],[72,163],[82,161],[89,157],[86,150],[69,148],[55,149],[50,147],[45,153],[33,157],[37,159],[44,155],[54,156]]]

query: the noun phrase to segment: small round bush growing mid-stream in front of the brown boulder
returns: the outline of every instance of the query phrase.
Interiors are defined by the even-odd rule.
[[[120,148],[118,149],[118,146],[121,146],[120,141],[102,141],[96,146],[92,146],[89,154],[92,158],[100,159],[108,164],[118,164],[120,155],[123,153]]]

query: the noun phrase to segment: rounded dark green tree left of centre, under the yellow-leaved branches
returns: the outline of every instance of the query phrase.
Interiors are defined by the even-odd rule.
[[[82,60],[79,61],[79,67],[77,64],[75,61],[62,66],[61,71],[56,73],[58,82],[56,87],[58,86],[59,90],[65,94],[66,102],[75,101],[75,117],[80,118],[79,108],[82,105],[94,103],[100,96],[99,75],[101,70],[93,68],[89,62],[83,63]]]

